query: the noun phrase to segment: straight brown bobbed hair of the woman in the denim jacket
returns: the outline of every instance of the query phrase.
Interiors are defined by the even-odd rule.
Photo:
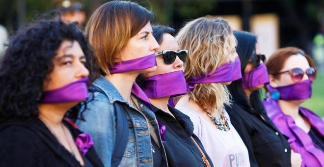
[[[129,39],[152,19],[151,11],[131,1],[109,1],[94,11],[85,33],[95,50],[103,75],[109,74],[115,56]]]

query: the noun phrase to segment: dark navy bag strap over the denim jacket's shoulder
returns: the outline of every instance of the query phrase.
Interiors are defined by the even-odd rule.
[[[91,86],[91,90],[103,93],[107,96],[107,94],[97,86]],[[114,102],[113,106],[116,115],[116,139],[111,157],[111,167],[118,167],[126,149],[129,127],[125,105],[121,104],[121,102]]]

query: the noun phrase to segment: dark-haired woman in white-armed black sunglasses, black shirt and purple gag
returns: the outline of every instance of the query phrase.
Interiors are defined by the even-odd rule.
[[[187,94],[183,65],[188,51],[180,50],[173,37],[173,28],[153,26],[152,29],[153,36],[160,44],[156,52],[157,70],[145,73],[144,80],[140,83],[150,98],[153,112],[161,124],[161,130],[164,131],[162,139],[168,165],[206,167],[204,163],[211,163],[211,160],[200,140],[193,134],[193,125],[189,117],[168,105],[170,97]]]

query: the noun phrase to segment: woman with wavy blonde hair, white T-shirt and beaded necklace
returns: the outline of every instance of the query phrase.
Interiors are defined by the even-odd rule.
[[[187,23],[176,39],[189,50],[184,71],[189,92],[176,108],[190,117],[215,166],[249,167],[247,149],[224,110],[230,104],[224,84],[242,78],[232,28],[225,19],[206,16]]]

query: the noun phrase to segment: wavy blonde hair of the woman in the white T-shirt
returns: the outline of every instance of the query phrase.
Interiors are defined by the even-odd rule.
[[[237,41],[227,20],[205,16],[189,21],[178,32],[176,39],[180,48],[188,49],[185,77],[193,77],[214,72],[224,63],[234,61]],[[189,97],[202,109],[218,111],[224,104],[230,104],[230,93],[221,83],[196,84],[188,93]]]

